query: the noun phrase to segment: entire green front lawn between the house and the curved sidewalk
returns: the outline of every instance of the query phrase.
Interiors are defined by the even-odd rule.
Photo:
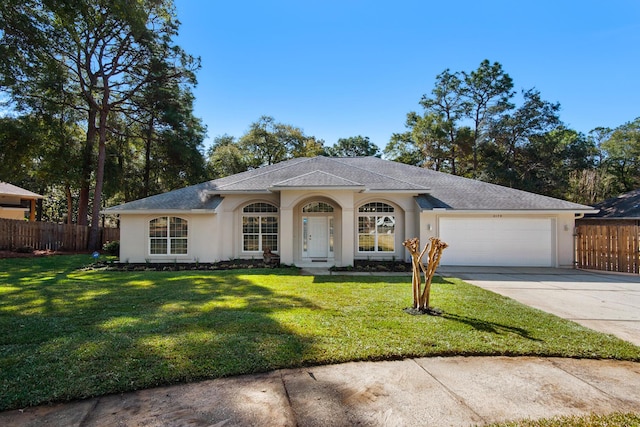
[[[640,348],[460,280],[82,270],[0,260],[0,410],[283,367],[436,355],[640,361]]]

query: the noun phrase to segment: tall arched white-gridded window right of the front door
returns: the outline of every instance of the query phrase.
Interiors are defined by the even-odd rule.
[[[358,208],[358,251],[395,252],[396,217],[393,206],[381,202]]]

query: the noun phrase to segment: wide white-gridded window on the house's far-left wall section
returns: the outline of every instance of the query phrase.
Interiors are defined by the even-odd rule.
[[[186,255],[188,222],[175,216],[161,216],[149,221],[151,255]]]

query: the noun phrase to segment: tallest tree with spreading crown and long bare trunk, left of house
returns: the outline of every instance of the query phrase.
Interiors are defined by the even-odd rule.
[[[170,0],[10,0],[5,6],[2,44],[9,46],[3,51],[10,56],[0,66],[3,84],[13,83],[16,98],[37,97],[40,91],[29,90],[34,82],[42,85],[43,78],[63,76],[60,90],[83,100],[72,99],[72,106],[86,114],[79,221],[86,221],[88,183],[94,174],[89,240],[96,247],[109,116],[154,78],[148,72],[154,59],[179,63],[180,69],[195,61],[172,45],[178,24]]]

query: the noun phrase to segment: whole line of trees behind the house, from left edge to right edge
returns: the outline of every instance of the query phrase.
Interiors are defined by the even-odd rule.
[[[205,154],[177,18],[171,0],[0,3],[0,180],[46,196],[39,219],[93,225],[104,206],[294,157],[381,155],[267,115]],[[578,133],[498,62],[444,70],[419,104],[385,158],[585,204],[640,186],[640,118]]]

